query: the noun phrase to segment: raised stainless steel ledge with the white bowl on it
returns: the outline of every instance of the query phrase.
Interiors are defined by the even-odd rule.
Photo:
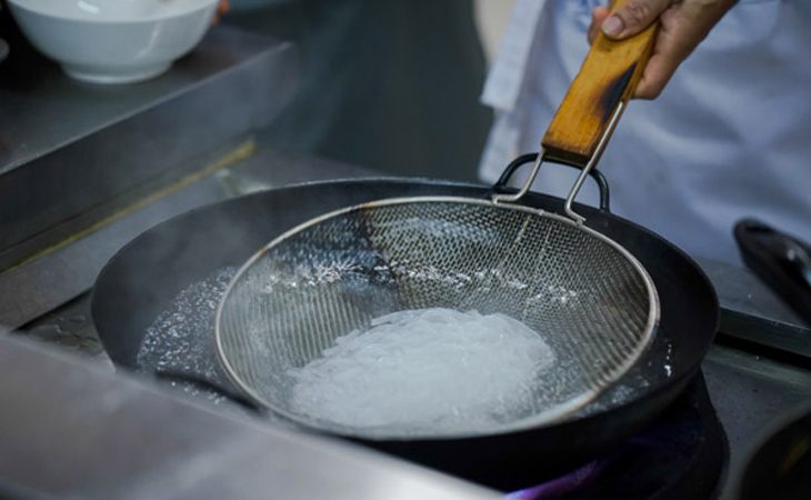
[[[227,154],[294,88],[290,43],[231,28],[212,29],[154,80],[93,86],[0,23],[11,43],[0,70],[0,270]]]

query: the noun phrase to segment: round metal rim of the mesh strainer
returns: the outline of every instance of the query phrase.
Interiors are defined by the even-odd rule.
[[[648,291],[648,299],[649,299],[649,307],[648,307],[648,321],[645,322],[644,329],[643,329],[643,348],[633,357],[630,357],[625,363],[623,363],[618,370],[615,370],[615,374],[608,379],[608,383],[605,387],[602,388],[600,391],[594,391],[593,393],[583,393],[581,398],[574,398],[570,400],[569,402],[564,404],[558,404],[549,410],[543,411],[540,414],[523,418],[515,420],[509,424],[502,424],[494,427],[492,430],[482,430],[482,431],[467,431],[467,432],[438,432],[438,433],[420,433],[420,434],[392,434],[392,433],[386,433],[380,432],[376,433],[373,430],[364,432],[363,429],[357,429],[357,428],[349,428],[340,424],[336,424],[333,422],[328,422],[314,418],[308,418],[306,416],[291,413],[287,410],[279,409],[276,404],[267,401],[261,394],[257,392],[257,390],[250,384],[247,383],[238,371],[232,367],[231,362],[228,359],[228,356],[224,352],[224,347],[222,344],[222,331],[220,328],[221,319],[222,319],[222,311],[223,307],[226,304],[226,301],[231,296],[232,289],[236,287],[236,284],[239,282],[240,278],[243,276],[243,273],[250,269],[257,260],[259,260],[266,252],[270,251],[274,247],[281,244],[283,241],[286,241],[288,238],[292,237],[293,234],[297,234],[310,227],[317,226],[328,219],[332,219],[334,217],[342,216],[344,213],[349,213],[356,210],[362,210],[362,209],[369,209],[369,208],[377,208],[377,207],[384,207],[384,206],[394,206],[394,204],[406,204],[406,203],[468,203],[468,204],[478,204],[478,206],[485,206],[489,208],[495,208],[495,209],[503,209],[503,210],[519,210],[527,213],[531,213],[538,217],[545,217],[551,218],[553,220],[570,224],[575,227],[579,230],[585,231],[589,236],[598,238],[599,240],[603,241],[604,243],[608,243],[610,247],[612,247],[614,250],[617,250],[625,260],[628,260],[631,266],[635,269],[635,271],[639,273],[639,276],[642,277],[642,281],[644,282],[645,289]],[[651,339],[653,338],[653,334],[655,332],[655,329],[659,324],[660,320],[660,302],[659,302],[659,293],[657,292],[655,284],[653,283],[653,280],[651,279],[648,271],[644,269],[641,262],[637,260],[633,254],[628,251],[624,247],[622,247],[617,241],[612,240],[611,238],[607,237],[605,234],[601,233],[600,231],[597,231],[592,228],[589,228],[582,223],[582,221],[573,220],[569,217],[561,216],[554,212],[550,212],[543,209],[532,208],[523,204],[512,203],[512,202],[495,202],[488,199],[478,199],[478,198],[467,198],[467,197],[450,197],[450,196],[428,196],[428,197],[400,197],[400,198],[386,198],[382,200],[376,200],[376,201],[369,201],[364,203],[354,204],[351,207],[344,207],[338,210],[333,210],[331,212],[323,213],[321,216],[318,216],[316,218],[309,219],[287,231],[281,233],[280,236],[272,239],[268,244],[256,251],[237,271],[234,277],[231,279],[231,281],[228,283],[228,287],[226,289],[226,292],[223,293],[222,298],[220,299],[220,302],[217,307],[217,316],[214,321],[214,347],[217,352],[217,359],[220,362],[220,366],[222,367],[223,371],[228,376],[228,378],[233,382],[237,388],[242,391],[250,400],[252,400],[254,403],[260,406],[261,408],[264,408],[272,413],[283,417],[297,424],[304,426],[307,428],[311,428],[318,431],[322,432],[330,432],[330,433],[340,433],[342,436],[349,436],[349,437],[356,437],[356,438],[362,438],[368,440],[414,440],[414,439],[454,439],[454,438],[470,438],[470,437],[479,437],[479,436],[497,436],[497,434],[504,434],[515,431],[522,431],[522,430],[529,430],[534,428],[541,428],[545,427],[552,423],[555,423],[558,421],[561,421],[563,417],[572,414],[575,410],[584,407],[589,402],[591,402],[594,398],[597,398],[600,393],[602,393],[605,389],[611,387],[613,383],[615,383],[619,379],[621,379],[628,371],[633,367],[637,361],[642,357],[642,353],[650,347]]]

